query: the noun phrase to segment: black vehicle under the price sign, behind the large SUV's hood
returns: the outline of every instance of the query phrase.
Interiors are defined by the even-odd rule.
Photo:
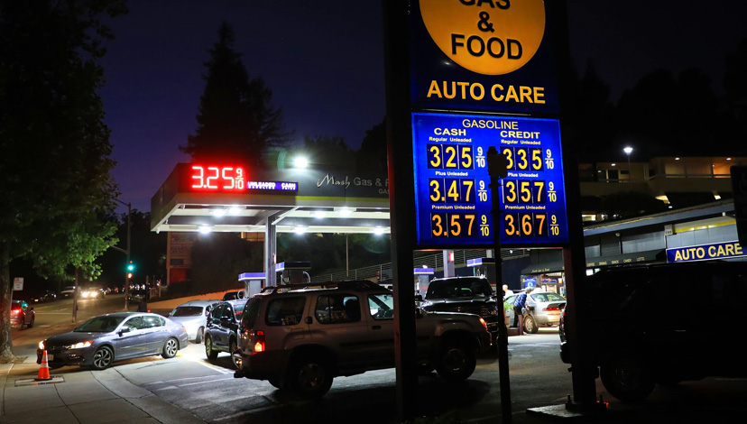
[[[417,300],[420,300],[416,296]],[[430,312],[462,312],[485,320],[493,344],[498,337],[501,312],[490,282],[482,277],[447,277],[431,280],[420,308]]]

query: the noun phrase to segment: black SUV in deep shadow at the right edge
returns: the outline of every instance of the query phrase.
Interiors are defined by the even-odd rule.
[[[610,268],[586,284],[590,356],[614,397],[641,401],[656,383],[747,376],[733,329],[743,320],[747,262]],[[560,357],[570,364],[568,324]]]

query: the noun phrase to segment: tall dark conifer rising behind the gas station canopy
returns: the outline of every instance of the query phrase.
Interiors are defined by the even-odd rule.
[[[230,159],[260,165],[269,149],[288,141],[282,109],[272,106],[272,90],[263,78],[249,79],[241,54],[234,51],[234,41],[234,30],[222,23],[205,64],[208,73],[197,133],[180,147],[193,161]]]

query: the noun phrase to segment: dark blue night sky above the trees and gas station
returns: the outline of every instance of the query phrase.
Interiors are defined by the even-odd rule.
[[[456,0],[455,0],[456,1]],[[590,60],[613,100],[655,69],[704,69],[722,92],[724,58],[747,37],[747,2],[569,0],[571,54]],[[293,141],[344,137],[357,149],[385,114],[378,0],[132,0],[110,23],[106,86],[120,199],[141,211],[197,128],[208,50],[226,20],[250,78],[262,77]],[[120,207],[120,212],[126,207]]]

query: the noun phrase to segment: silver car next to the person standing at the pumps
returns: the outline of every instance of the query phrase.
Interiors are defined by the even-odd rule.
[[[507,327],[513,325],[513,301],[518,296],[519,293],[512,294],[503,300],[503,314]],[[536,334],[539,327],[558,327],[566,301],[566,298],[553,291],[530,291],[527,295],[527,309],[523,315],[524,332]]]

